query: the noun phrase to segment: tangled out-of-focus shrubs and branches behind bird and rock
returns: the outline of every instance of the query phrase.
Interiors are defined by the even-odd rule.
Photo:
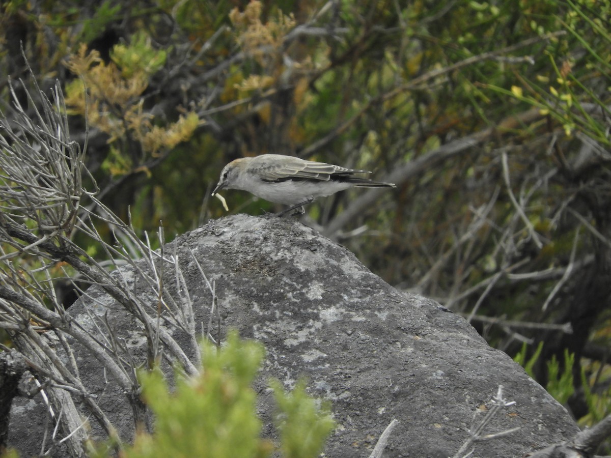
[[[3,111],[32,108],[10,81],[59,79],[81,145],[89,123],[83,180],[138,230],[223,216],[208,196],[238,157],[373,170],[397,189],[322,200],[310,224],[492,346],[530,356],[543,342],[536,379],[568,363],[571,412],[609,413],[609,0],[15,0],[0,13]],[[273,209],[225,197],[232,213]]]

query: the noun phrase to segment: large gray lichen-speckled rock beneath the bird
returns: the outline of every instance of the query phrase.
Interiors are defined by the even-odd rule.
[[[453,456],[469,438],[469,427],[503,385],[515,404],[486,429],[519,431],[478,442],[472,457],[521,457],[578,431],[558,404],[503,352],[492,349],[461,317],[433,300],[404,294],[363,266],[342,246],[293,219],[233,216],[209,222],[178,237],[177,253],[200,304],[197,322],[208,323],[210,292],[189,257],[190,248],[210,280],[216,281],[221,331],[238,329],[265,344],[266,361],[257,382],[264,434],[274,437],[274,405],[266,380],[291,387],[309,379],[313,396],[329,399],[337,429],[328,457],[367,457],[393,419],[384,456]],[[172,252],[166,247],[166,253]],[[174,288],[171,277],[167,288]],[[100,291],[70,314],[94,330],[85,307],[108,317],[144,362],[137,322]],[[145,294],[144,292],[142,294]],[[154,300],[154,297],[152,297]],[[188,338],[174,337],[185,348]],[[99,364],[76,349],[81,378],[123,437],[133,434],[131,409],[122,390],[104,381]],[[38,453],[44,413],[40,402],[13,407],[10,440],[25,454]],[[99,433],[91,421],[93,433]],[[58,452],[59,453],[59,452]],[[57,454],[60,456],[60,454]]]

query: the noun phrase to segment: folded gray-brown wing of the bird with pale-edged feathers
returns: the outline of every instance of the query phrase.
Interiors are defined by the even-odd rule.
[[[279,154],[257,156],[258,175],[266,181],[286,180],[287,178],[309,178],[310,180],[329,181],[332,175],[349,176],[354,173],[368,173],[324,162],[305,161],[305,159]]]

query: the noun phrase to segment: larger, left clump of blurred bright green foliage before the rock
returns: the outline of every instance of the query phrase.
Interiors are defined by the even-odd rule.
[[[178,377],[174,393],[159,369],[139,377],[142,396],[155,413],[155,432],[137,435],[123,457],[264,457],[271,446],[260,439],[251,384],[263,358],[263,347],[240,341],[234,333],[220,351],[202,344],[202,372]]]

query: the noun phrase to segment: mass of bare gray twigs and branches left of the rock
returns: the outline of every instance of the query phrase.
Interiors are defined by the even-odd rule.
[[[68,336],[100,363],[104,379],[109,374],[119,385],[133,407],[136,421],[145,420],[145,407],[139,398],[135,377],[140,362],[131,355],[125,339],[117,335],[108,314],[86,310],[91,329],[98,333],[95,335],[66,313],[53,289],[52,267],[57,263],[69,265],[71,272],[72,269],[78,272],[79,282],[97,285],[117,302],[117,307],[138,319],[152,360],[170,355],[173,364],[179,362],[186,373],[195,374],[200,353],[197,348],[192,362],[172,333],[161,325],[163,322],[186,330],[192,337],[192,345],[197,347],[192,297],[186,288],[178,254],[164,256],[162,230],[159,231],[162,249],[160,253],[155,252],[148,236],[142,241],[136,235],[131,216],[126,224],[84,189],[81,176],[88,173],[84,169],[84,151],[70,141],[59,82],[54,88],[53,103],[40,89],[37,91],[39,109],[28,93],[34,116],[27,114],[18,102],[10,123],[0,113],[0,328],[13,332],[15,346],[40,379],[40,390],[49,412],[49,431],[45,431],[42,453],[50,453],[64,443],[71,456],[81,456],[88,432],[82,427],[82,412],[76,409],[73,398],[81,401],[114,443],[120,445],[120,439],[96,398],[84,387],[79,360],[72,353],[73,343]],[[92,205],[81,205],[87,199]],[[104,241],[98,233],[99,222],[111,227],[119,244]],[[73,242],[75,233],[97,243],[109,262],[93,260]],[[28,268],[23,269],[15,258],[27,261]],[[136,261],[137,258],[140,260]],[[171,269],[167,269],[168,263]],[[132,269],[129,274],[126,267]],[[109,268],[115,271],[111,274]],[[62,265],[60,272],[66,271],[67,267]],[[166,275],[175,277],[177,299],[165,288]],[[134,276],[137,281],[131,282]],[[214,283],[210,285],[207,279],[206,282],[214,301]],[[136,289],[137,285],[144,286],[144,293]],[[75,287],[84,297],[92,297]],[[40,330],[57,336],[53,345]],[[59,357],[58,350],[65,358]]]

